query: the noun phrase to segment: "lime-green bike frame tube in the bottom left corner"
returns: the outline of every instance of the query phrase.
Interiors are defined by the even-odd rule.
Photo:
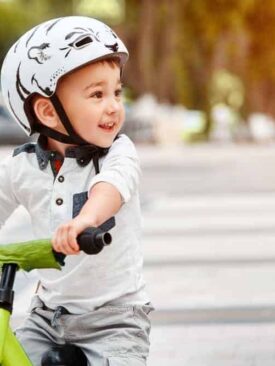
[[[10,312],[0,309],[0,365],[32,366],[21,344],[13,334],[9,321]]]

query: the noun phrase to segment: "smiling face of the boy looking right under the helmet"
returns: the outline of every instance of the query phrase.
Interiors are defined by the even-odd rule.
[[[99,62],[76,70],[60,81],[57,95],[82,138],[111,146],[125,117],[117,65]]]

